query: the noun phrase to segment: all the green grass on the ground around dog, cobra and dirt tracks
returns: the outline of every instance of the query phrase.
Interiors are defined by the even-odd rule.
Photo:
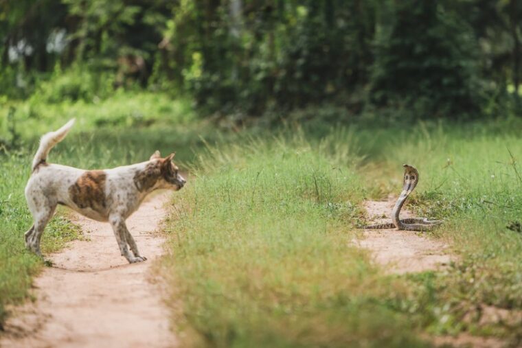
[[[161,93],[6,105],[0,322],[5,305],[27,297],[43,266],[23,245],[31,224],[23,187],[36,141],[76,117],[51,162],[114,167],[159,149],[177,151],[190,168],[189,185],[173,202],[172,253],[161,268],[183,345],[424,347],[427,335],[460,332],[521,342],[522,323],[481,318],[483,306],[522,310],[522,235],[506,229],[522,219],[517,119],[410,128],[309,122],[236,133]],[[413,208],[446,220],[429,234],[458,257],[443,272],[385,275],[350,244],[363,219],[361,201],[397,194],[402,163],[420,171]],[[44,251],[76,237],[59,213],[44,234]]]

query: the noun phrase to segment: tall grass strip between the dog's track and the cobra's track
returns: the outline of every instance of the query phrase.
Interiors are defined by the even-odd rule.
[[[350,244],[360,159],[332,158],[326,143],[253,139],[200,156],[174,203],[165,268],[176,320],[192,330],[183,344],[423,345],[388,303],[407,288]]]

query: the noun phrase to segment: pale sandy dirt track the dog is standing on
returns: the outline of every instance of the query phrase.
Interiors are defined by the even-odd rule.
[[[52,268],[35,279],[35,303],[17,308],[0,347],[173,347],[168,312],[150,268],[163,253],[155,231],[170,194],[157,194],[128,218],[141,255],[128,264],[109,224],[77,216],[87,240],[51,255]],[[45,237],[45,236],[44,236]]]

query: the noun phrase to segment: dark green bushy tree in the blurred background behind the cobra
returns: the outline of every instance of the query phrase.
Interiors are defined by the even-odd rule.
[[[477,43],[448,7],[444,1],[400,1],[383,14],[391,23],[379,27],[376,38],[372,100],[377,104],[421,115],[479,116]]]

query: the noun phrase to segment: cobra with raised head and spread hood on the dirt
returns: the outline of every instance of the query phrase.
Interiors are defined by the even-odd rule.
[[[393,229],[396,228],[398,230],[405,231],[430,231],[433,227],[442,223],[441,220],[428,220],[427,218],[408,218],[408,219],[399,219],[400,209],[402,209],[402,205],[406,198],[408,198],[409,194],[413,192],[413,189],[417,186],[419,182],[419,172],[415,167],[411,165],[404,164],[402,167],[405,167],[404,179],[402,181],[402,192],[395,203],[394,210],[391,212],[391,223],[387,224],[372,224],[370,226],[363,226],[363,229]]]

